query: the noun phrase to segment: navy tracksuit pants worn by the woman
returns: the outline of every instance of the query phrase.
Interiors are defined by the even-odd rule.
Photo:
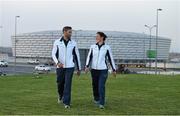
[[[108,70],[91,70],[92,87],[94,100],[99,101],[100,105],[105,104],[105,84],[108,77]]]

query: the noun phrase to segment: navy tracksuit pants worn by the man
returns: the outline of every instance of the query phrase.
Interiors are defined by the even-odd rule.
[[[63,100],[63,103],[70,105],[71,102],[71,84],[74,68],[57,68],[57,88],[59,99]]]

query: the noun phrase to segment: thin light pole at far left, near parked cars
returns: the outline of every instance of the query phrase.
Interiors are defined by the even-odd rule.
[[[16,34],[17,34],[17,19],[20,16],[15,16],[15,34],[14,34],[14,74],[16,74]]]

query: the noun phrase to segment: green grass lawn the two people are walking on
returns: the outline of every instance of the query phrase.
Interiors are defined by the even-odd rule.
[[[117,75],[106,83],[106,108],[92,102],[90,75],[74,75],[72,107],[57,104],[54,74],[0,78],[0,114],[180,114],[180,75]]]

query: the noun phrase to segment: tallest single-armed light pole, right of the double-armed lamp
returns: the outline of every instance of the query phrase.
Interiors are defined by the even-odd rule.
[[[156,10],[156,59],[155,59],[155,74],[157,75],[157,47],[158,47],[158,15],[159,15],[159,11],[162,11],[162,9],[158,8]]]

